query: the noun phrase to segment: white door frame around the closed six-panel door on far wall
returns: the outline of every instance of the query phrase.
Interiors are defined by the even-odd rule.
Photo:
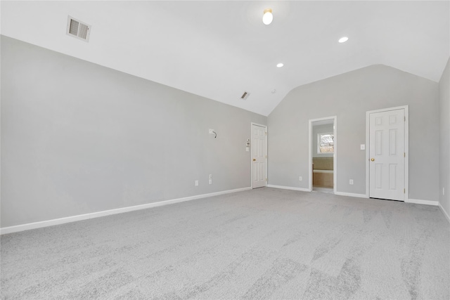
[[[404,180],[405,180],[405,199],[406,202],[409,200],[409,107],[408,105],[396,106],[390,108],[383,108],[380,110],[369,110],[366,112],[366,197],[370,198],[370,180],[369,180],[369,149],[370,149],[370,132],[369,125],[370,120],[369,117],[371,114],[375,112],[388,112],[390,110],[404,110],[405,111],[405,169],[404,169]]]

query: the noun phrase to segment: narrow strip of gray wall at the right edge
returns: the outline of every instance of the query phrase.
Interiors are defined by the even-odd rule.
[[[439,203],[450,216],[450,60],[439,81]],[[445,194],[442,195],[442,188]]]

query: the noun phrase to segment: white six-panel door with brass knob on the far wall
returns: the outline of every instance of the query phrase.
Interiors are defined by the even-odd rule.
[[[405,200],[405,110],[369,115],[369,197]]]

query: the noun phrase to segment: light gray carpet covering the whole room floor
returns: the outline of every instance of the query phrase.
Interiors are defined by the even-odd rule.
[[[1,236],[2,299],[449,299],[438,207],[261,188]]]

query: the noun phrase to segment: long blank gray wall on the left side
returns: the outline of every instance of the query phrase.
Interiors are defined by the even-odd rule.
[[[1,227],[250,187],[250,122],[266,117],[2,36]]]

